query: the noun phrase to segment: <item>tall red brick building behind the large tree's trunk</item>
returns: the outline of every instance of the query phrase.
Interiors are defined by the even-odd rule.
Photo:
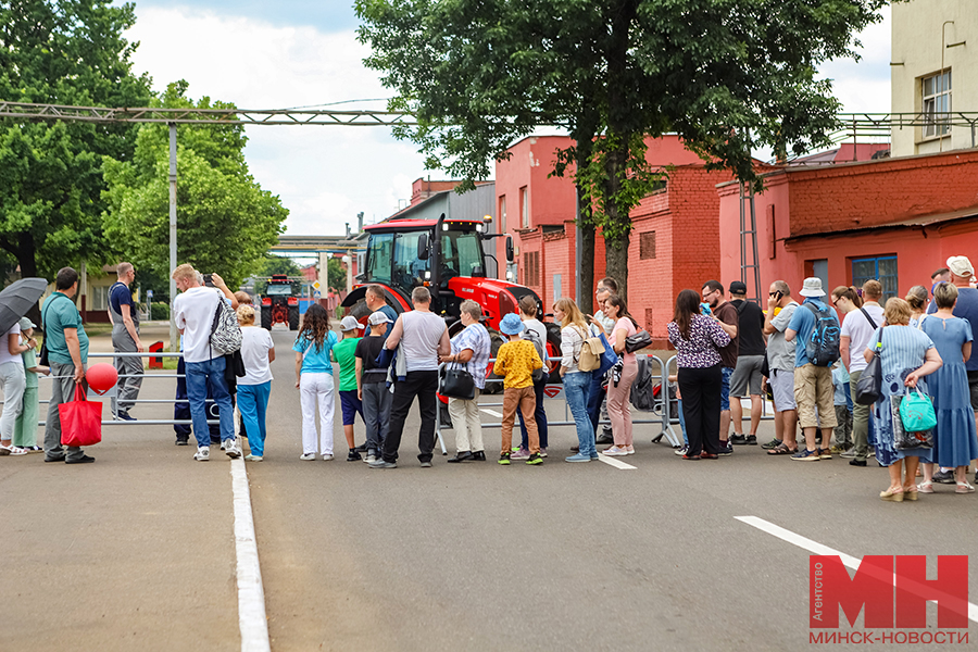
[[[569,178],[548,178],[554,152],[570,145],[565,137],[526,138],[510,149],[509,161],[496,166],[497,215],[503,230],[515,236],[512,280],[532,288],[548,309],[556,298],[577,292],[574,184]],[[649,139],[648,146],[649,163],[668,168],[669,176],[631,214],[628,308],[656,346],[663,346],[679,290],[699,290],[704,280],[719,276],[716,185],[730,175],[706,172],[703,161],[676,136]],[[605,271],[600,231],[597,240],[595,280]],[[593,291],[593,283],[587,291]]]

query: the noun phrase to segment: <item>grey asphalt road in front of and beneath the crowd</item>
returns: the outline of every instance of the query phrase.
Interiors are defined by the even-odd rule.
[[[436,454],[425,469],[412,415],[399,468],[377,471],[343,461],[337,414],[337,460],[303,462],[291,335],[273,337],[266,456],[248,474],[276,651],[798,650],[810,552],[737,517],[855,557],[928,555],[931,574],[936,555],[976,551],[978,494],[941,486],[883,503],[874,464],[799,464],[760,447],[684,462],[650,442],[655,426],[636,427],[634,469],[565,464],[567,427],[552,430],[541,466]],[[147,398],[172,396],[149,387]],[[93,465],[0,460],[0,650],[240,647],[227,462],[193,463],[166,427],[115,432]],[[497,456],[498,429],[486,443]],[[937,649],[974,649],[969,634],[971,645]]]

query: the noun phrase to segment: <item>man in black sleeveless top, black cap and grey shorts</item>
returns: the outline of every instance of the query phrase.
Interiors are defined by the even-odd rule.
[[[761,367],[767,354],[764,337],[764,311],[756,303],[747,300],[747,284],[735,280],[730,284],[730,304],[737,309],[737,334],[740,350],[737,366],[730,377],[730,417],[734,435],[730,443],[757,446],[757,427],[761,425]],[[751,434],[743,435],[743,405],[740,399],[751,397]]]

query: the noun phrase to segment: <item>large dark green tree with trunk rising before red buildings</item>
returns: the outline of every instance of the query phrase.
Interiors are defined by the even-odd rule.
[[[661,173],[644,138],[677,133],[711,170],[756,180],[751,152],[827,142],[839,103],[818,64],[855,57],[887,0],[358,0],[369,67],[421,127],[396,131],[472,181],[539,125],[577,141],[584,224],[627,292],[630,211]],[[595,136],[592,138],[591,136]],[[586,145],[587,143],[587,145]],[[590,149],[590,151],[587,151]]]

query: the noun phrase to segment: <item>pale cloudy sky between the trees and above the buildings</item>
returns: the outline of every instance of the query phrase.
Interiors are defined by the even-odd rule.
[[[350,0],[136,0],[137,72],[154,90],[186,79],[190,97],[206,95],[242,109],[288,109],[389,97],[363,66]],[[889,11],[887,10],[887,18]],[[890,104],[889,20],[861,37],[863,60],[832,62],[823,73],[851,112],[886,112]],[[384,109],[360,101],[337,109]],[[290,210],[292,235],[339,235],[393,213],[426,176],[410,143],[385,127],[249,127],[246,156],[263,188]],[[432,173],[439,177],[439,173]]]

